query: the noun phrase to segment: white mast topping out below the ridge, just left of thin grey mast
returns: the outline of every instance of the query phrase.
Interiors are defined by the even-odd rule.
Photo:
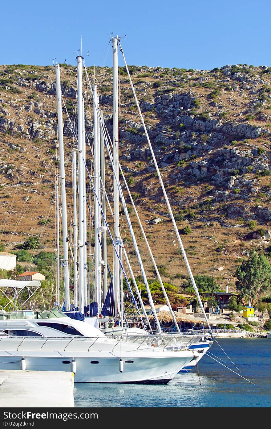
[[[95,192],[97,198],[94,202],[94,224],[95,224],[95,300],[98,303],[98,311],[101,310],[101,245],[99,242],[101,227],[101,179],[100,179],[100,135],[98,122],[98,100],[97,85],[92,88],[93,91],[93,135],[94,135],[94,180]]]

